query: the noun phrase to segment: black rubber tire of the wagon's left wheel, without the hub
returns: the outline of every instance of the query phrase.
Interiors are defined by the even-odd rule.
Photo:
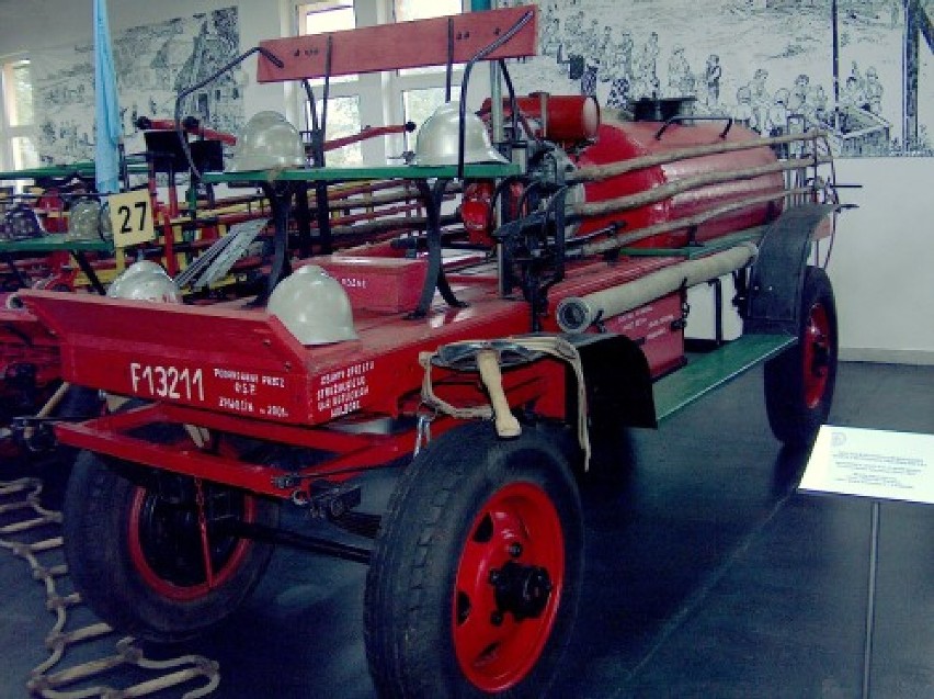
[[[235,560],[236,564],[229,564],[229,570],[221,568],[225,575],[220,584],[198,588],[184,580],[173,580],[179,590],[201,589],[191,598],[174,591],[167,594],[169,585],[164,580],[162,588],[157,589],[147,582],[137,563],[138,560],[150,561],[146,556],[151,555],[151,549],[149,554],[141,554],[143,559],[139,553],[136,557],[132,553],[134,525],[139,525],[136,530],[143,533],[140,522],[145,521],[147,512],[172,511],[168,500],[157,499],[152,486],[151,472],[145,469],[128,464],[111,467],[96,454],[81,452],[65,496],[65,554],[76,589],[104,621],[121,632],[148,641],[174,643],[203,633],[236,610],[259,583],[274,546],[246,540],[238,544],[234,541],[240,540],[218,537],[212,541],[212,546],[238,552],[224,554],[228,556],[227,562]],[[241,508],[246,508],[243,503],[251,500],[252,521],[277,526],[277,503],[219,485],[205,483],[204,487],[212,488],[212,495],[229,496],[229,501],[240,503]],[[157,506],[164,509],[152,509]],[[152,525],[147,531],[155,529]],[[178,544],[180,539],[173,537],[172,543]],[[141,546],[136,550],[144,551]],[[153,564],[150,575],[158,567]]]

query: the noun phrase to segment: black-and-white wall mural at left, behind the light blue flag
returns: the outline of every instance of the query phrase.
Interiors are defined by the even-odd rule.
[[[237,8],[135,26],[112,34],[126,153],[143,151],[138,116],[172,119],[179,91],[240,53]],[[94,46],[87,42],[32,53],[37,150],[43,165],[94,157]],[[244,74],[234,71],[191,94],[183,115],[236,132],[243,123]]]

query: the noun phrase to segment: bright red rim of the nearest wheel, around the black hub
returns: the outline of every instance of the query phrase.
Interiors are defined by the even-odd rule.
[[[547,573],[550,591],[532,618],[501,613],[493,579],[504,566]],[[502,691],[535,665],[555,623],[565,580],[561,522],[548,495],[531,483],[497,492],[470,527],[455,576],[454,649],[477,688]]]

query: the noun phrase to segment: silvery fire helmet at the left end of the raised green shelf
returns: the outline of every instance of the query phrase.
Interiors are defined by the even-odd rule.
[[[258,112],[250,117],[237,137],[228,170],[271,170],[304,168],[305,144],[301,134],[278,112]]]

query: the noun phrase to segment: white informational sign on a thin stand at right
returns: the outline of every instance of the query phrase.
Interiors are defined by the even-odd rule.
[[[934,435],[824,425],[799,489],[934,505]]]

